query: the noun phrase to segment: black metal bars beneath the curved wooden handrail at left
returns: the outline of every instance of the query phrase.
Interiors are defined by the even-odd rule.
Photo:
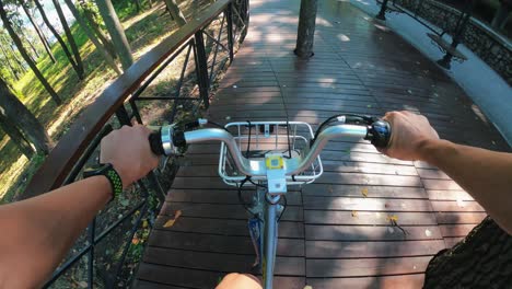
[[[120,96],[126,101],[116,107],[115,114],[88,143],[62,185],[79,180],[82,169],[97,161],[100,141],[114,127],[131,125],[132,122],[148,124],[144,122],[144,116],[154,118],[154,114],[151,113],[154,108],[152,102],[165,103],[166,108],[159,114],[159,118],[170,123],[183,117],[181,114],[194,115],[201,107],[209,106],[216,83],[222,71],[233,61],[234,54],[248,27],[247,0],[223,0],[212,7],[203,13],[214,14],[208,15],[207,22],[196,23],[198,28],[193,27],[196,31],[193,36],[186,33],[182,35],[181,31],[170,36],[183,37],[175,39],[182,45],[153,69],[150,68],[150,71],[144,73],[148,77],[143,81],[129,83],[137,84],[138,89],[131,95]],[[154,51],[148,54],[152,53]],[[174,73],[168,77],[168,71]],[[178,78],[175,78],[176,71],[179,71]],[[155,88],[159,83],[171,84],[167,85],[170,86],[167,90],[158,90]],[[155,93],[158,95],[154,95]],[[133,245],[137,245],[133,244],[133,236],[141,228],[149,227],[150,230],[152,227],[155,212],[164,201],[165,189],[168,186],[168,184],[162,185],[162,181],[168,182],[172,175],[172,169],[163,165],[125,192],[121,198],[108,204],[92,220],[45,287],[129,286],[127,279],[136,268],[132,266],[127,268],[126,258],[133,253]]]

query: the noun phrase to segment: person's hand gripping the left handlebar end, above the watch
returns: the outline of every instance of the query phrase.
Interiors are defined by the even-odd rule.
[[[102,139],[101,163],[112,163],[123,180],[123,187],[146,176],[159,164],[148,137],[151,130],[141,125],[124,126]]]

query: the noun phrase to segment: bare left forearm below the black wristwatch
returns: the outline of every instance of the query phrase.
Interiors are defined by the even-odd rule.
[[[0,227],[10,235],[0,239],[0,287],[40,286],[110,196],[108,181],[94,176],[0,207]]]

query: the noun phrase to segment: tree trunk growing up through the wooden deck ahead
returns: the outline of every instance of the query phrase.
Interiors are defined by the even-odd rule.
[[[310,58],[313,54],[315,41],[317,0],[301,0],[299,15],[299,30],[296,32],[295,55],[301,58]]]

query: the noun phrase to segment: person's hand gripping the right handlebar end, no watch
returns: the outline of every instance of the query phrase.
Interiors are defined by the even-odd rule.
[[[383,117],[392,126],[387,148],[380,151],[404,161],[422,160],[421,148],[430,140],[439,139],[427,117],[409,112],[389,112]]]

